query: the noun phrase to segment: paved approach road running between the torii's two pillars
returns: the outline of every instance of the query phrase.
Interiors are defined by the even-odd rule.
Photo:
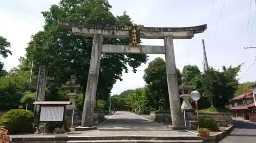
[[[99,129],[164,129],[165,126],[143,119],[129,111],[117,111],[112,117],[98,126]]]

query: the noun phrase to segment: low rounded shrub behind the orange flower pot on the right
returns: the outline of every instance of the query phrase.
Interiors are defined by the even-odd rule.
[[[211,131],[219,130],[218,123],[208,116],[199,117],[198,126],[200,128],[208,128]]]

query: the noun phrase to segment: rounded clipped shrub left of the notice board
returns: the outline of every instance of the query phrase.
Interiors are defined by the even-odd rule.
[[[34,115],[25,109],[12,109],[0,119],[0,127],[7,129],[9,134],[33,133]]]

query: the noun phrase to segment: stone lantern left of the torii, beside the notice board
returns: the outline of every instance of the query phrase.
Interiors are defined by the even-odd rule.
[[[66,110],[66,117],[67,117],[67,124],[68,125],[79,125],[79,114],[77,111],[76,105],[76,97],[78,95],[78,91],[80,89],[80,85],[76,83],[76,76],[72,75],[71,79],[67,81],[66,84],[62,86],[62,88],[68,92],[69,101],[71,102],[70,105],[67,105]],[[72,122],[73,118],[73,122]],[[72,126],[71,125],[71,126]]]

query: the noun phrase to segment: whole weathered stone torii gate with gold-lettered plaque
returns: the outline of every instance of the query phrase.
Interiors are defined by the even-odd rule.
[[[182,126],[183,119],[181,116],[173,39],[191,39],[195,34],[203,33],[207,28],[206,24],[194,27],[121,27],[103,25],[89,26],[73,22],[59,21],[59,25],[61,27],[72,29],[74,35],[94,37],[81,127],[92,127],[101,52],[165,54],[172,123],[174,127]],[[129,45],[104,45],[102,44],[103,37],[130,38],[131,43]],[[164,46],[140,45],[140,38],[164,39]]]

